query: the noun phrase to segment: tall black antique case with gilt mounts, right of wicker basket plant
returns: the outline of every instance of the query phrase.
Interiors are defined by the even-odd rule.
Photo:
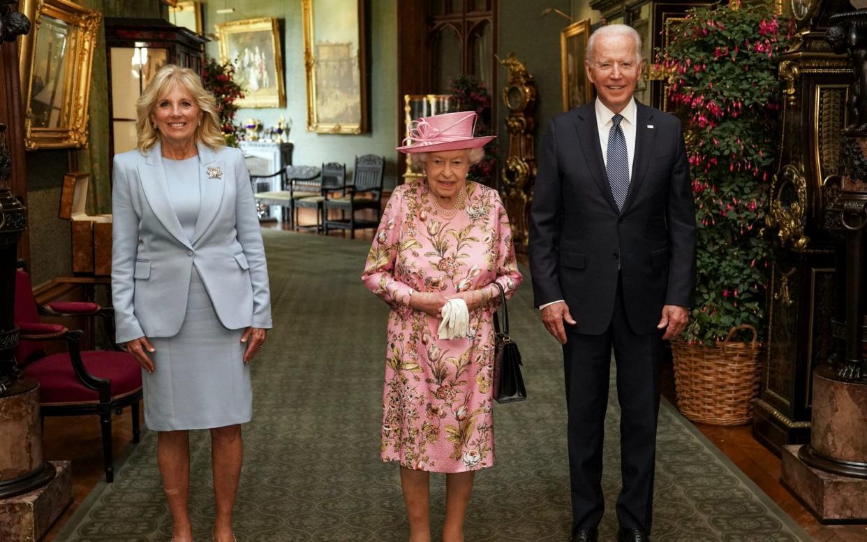
[[[753,434],[779,453],[810,435],[812,369],[833,353],[831,320],[843,306],[835,240],[826,207],[838,192],[840,131],[852,70],[825,42],[828,17],[851,10],[833,0],[792,0],[799,25],[781,56],[783,82],[778,171],[772,179],[774,238],[767,289],[767,338]]]

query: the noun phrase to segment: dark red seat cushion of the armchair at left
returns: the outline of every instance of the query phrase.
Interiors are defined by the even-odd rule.
[[[112,398],[141,388],[141,366],[127,352],[89,350],[81,352],[88,373],[111,381]],[[44,403],[99,402],[99,394],[85,387],[75,376],[69,355],[45,356],[24,368],[24,374],[39,382],[40,401]]]

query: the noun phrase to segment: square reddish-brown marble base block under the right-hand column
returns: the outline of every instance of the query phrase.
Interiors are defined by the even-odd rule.
[[[867,480],[810,467],[799,458],[802,446],[784,446],[780,450],[783,486],[822,523],[867,520]]]

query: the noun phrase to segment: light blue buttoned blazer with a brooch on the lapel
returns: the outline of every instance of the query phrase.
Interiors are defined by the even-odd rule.
[[[199,144],[201,206],[192,239],[169,199],[158,143],[114,156],[112,300],[116,340],[174,336],[193,266],[230,330],[271,328],[271,292],[250,173],[237,148]]]

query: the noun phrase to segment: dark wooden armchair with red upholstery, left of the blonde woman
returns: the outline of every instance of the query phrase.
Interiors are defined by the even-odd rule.
[[[111,446],[111,415],[130,407],[133,415],[133,442],[139,441],[141,367],[127,352],[81,351],[81,330],[68,330],[55,323],[41,323],[39,315],[55,317],[102,317],[108,334],[114,330],[111,309],[95,303],[62,302],[42,307],[36,304],[30,278],[18,270],[15,289],[15,323],[21,330],[16,360],[28,375],[39,382],[42,419],[45,416],[100,416],[102,453],[106,481],[114,480]],[[67,351],[46,356],[44,341],[65,341]],[[112,346],[115,347],[114,342]],[[116,347],[115,347],[116,348]]]

